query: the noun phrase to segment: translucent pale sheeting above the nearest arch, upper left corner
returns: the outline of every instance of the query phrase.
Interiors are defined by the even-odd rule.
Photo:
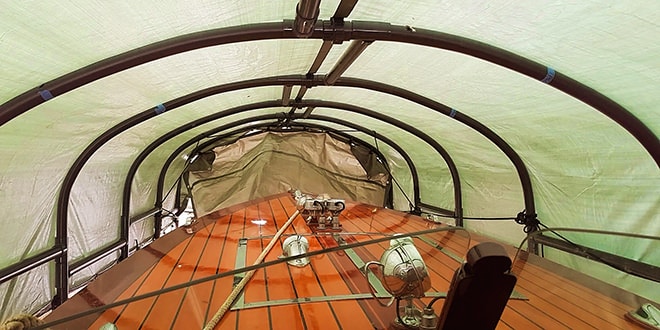
[[[3,63],[0,68],[0,81],[3,82],[0,84],[0,103],[60,75],[146,44],[207,29],[293,19],[296,3],[278,1],[266,5],[250,0],[191,1],[183,4],[177,1],[146,1],[129,5],[103,1],[61,4],[1,1],[5,10],[0,13],[0,31],[3,32],[0,42],[0,61]],[[324,17],[330,17],[337,1],[323,1],[321,6]],[[57,33],[44,34],[43,31]],[[268,49],[272,50],[271,47]],[[264,54],[264,50],[260,54]],[[299,59],[299,54],[296,52],[292,54],[295,56],[286,58],[293,61]],[[239,53],[228,52],[225,57],[237,61],[242,61],[241,57],[247,59],[236,55],[246,54],[241,54],[239,50]],[[186,72],[203,68],[198,67],[197,61],[191,63],[196,65],[178,68],[185,67]],[[257,65],[258,62],[251,63]],[[289,65],[294,64],[291,62]],[[238,67],[232,67],[239,72]],[[182,73],[180,70],[169,72]],[[213,72],[216,71],[204,74]],[[223,75],[221,73],[218,77]],[[187,79],[190,78],[187,75]]]

